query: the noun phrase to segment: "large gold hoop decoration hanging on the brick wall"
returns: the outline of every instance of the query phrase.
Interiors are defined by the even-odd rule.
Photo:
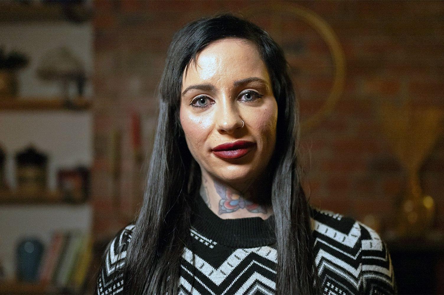
[[[298,19],[303,20],[308,23],[325,41],[329,47],[329,52],[332,56],[333,61],[333,85],[330,89],[330,93],[322,105],[321,109],[317,111],[313,116],[309,117],[307,120],[301,123],[301,132],[305,134],[309,130],[316,127],[322,122],[329,114],[333,112],[333,109],[341,97],[342,91],[344,89],[345,82],[345,56],[342,50],[341,44],[337,39],[332,27],[329,26],[324,19],[318,16],[316,13],[303,8],[299,5],[291,4],[270,4],[255,6],[252,8],[247,8],[246,11],[242,13],[243,16],[249,18],[251,16],[257,16],[258,14],[270,12],[279,12],[281,14],[290,13],[292,16],[296,16]]]

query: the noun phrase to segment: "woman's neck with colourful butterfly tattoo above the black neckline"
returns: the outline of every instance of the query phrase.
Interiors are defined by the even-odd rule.
[[[273,215],[270,188],[267,182],[258,180],[241,191],[202,171],[200,195],[222,219],[261,217],[265,220]]]

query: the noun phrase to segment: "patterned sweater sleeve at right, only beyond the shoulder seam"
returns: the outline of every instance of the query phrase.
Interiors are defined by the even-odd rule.
[[[361,226],[361,294],[397,294],[389,249],[368,226]]]

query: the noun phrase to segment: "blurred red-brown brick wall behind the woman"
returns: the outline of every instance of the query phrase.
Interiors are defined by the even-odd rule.
[[[261,5],[265,7],[258,8]],[[345,53],[344,93],[333,113],[301,139],[313,204],[360,220],[372,214],[380,220],[381,231],[393,225],[406,175],[382,133],[379,104],[410,100],[418,110],[444,110],[444,2],[99,0],[94,19],[92,174],[99,239],[126,225],[136,212],[142,185],[135,183],[143,179],[137,179],[135,172],[141,167],[132,153],[131,115],[141,114],[143,148],[149,154],[157,114],[154,93],[166,50],[174,32],[189,21],[228,11],[248,16],[285,49],[302,120],[321,107],[334,70],[328,46],[307,23],[274,11],[276,5],[316,13],[333,29]],[[111,160],[116,149],[121,150],[119,178],[113,175]],[[443,178],[444,135],[440,134],[420,169],[422,189],[436,202],[438,229],[444,229]]]

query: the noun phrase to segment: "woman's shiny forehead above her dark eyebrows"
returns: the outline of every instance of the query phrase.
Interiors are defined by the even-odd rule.
[[[182,89],[207,82],[219,84],[258,77],[270,82],[265,63],[256,45],[244,39],[222,39],[208,45],[187,66],[182,77]]]

